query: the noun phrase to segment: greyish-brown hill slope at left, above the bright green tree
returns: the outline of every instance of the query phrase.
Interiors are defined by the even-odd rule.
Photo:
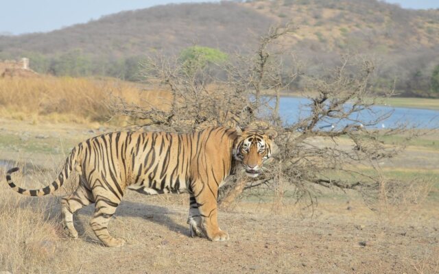
[[[232,51],[244,47],[274,23],[250,5],[200,3],[160,5],[119,12],[97,21],[48,33],[0,37],[3,53],[54,54],[82,49],[106,57],[177,52],[193,44]]]

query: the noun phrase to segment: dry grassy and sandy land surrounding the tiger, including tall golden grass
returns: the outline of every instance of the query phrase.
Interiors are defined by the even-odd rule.
[[[403,199],[368,201],[356,190],[311,186],[317,203],[296,203],[292,186],[276,194],[244,195],[219,212],[228,242],[190,238],[187,195],[150,197],[127,192],[110,232],[127,240],[106,248],[78,212],[78,240],[66,238],[59,199],[23,197],[5,182],[39,188],[56,177],[77,142],[119,129],[110,121],[109,94],[133,102],[165,103],[139,84],[110,79],[0,79],[0,271],[10,273],[438,273],[439,133],[410,142],[381,163],[402,183]],[[154,101],[155,100],[155,101]],[[397,136],[403,139],[404,136]],[[395,140],[383,140],[391,143]],[[334,177],[337,174],[333,175]],[[355,180],[355,177],[353,177]],[[390,188],[381,188],[383,192]]]

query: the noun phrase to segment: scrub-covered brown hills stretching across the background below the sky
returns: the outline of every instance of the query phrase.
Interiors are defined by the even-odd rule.
[[[326,73],[346,52],[372,55],[379,64],[378,89],[396,80],[403,95],[437,96],[431,79],[439,64],[439,11],[405,10],[375,0],[161,5],[49,33],[0,36],[0,59],[28,56],[40,73],[137,80],[145,54],[178,54],[194,44],[250,53],[270,25],[286,21],[298,27],[285,41],[287,49],[308,73]]]

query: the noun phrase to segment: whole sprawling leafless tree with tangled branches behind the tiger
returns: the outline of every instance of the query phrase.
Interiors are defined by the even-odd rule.
[[[285,185],[296,201],[306,201],[311,207],[316,201],[313,186],[356,189],[365,197],[376,193],[372,190],[383,182],[379,160],[403,149],[403,145],[385,145],[382,138],[404,133],[408,141],[420,133],[403,123],[391,129],[377,127],[392,112],[374,108],[379,99],[371,91],[375,65],[348,55],[325,77],[300,75],[308,103],[302,105],[295,123],[282,121],[281,92],[300,74],[300,64],[282,47],[282,40],[293,30],[291,25],[270,28],[254,55],[237,55],[227,64],[206,65],[195,58],[188,68],[179,58],[150,57],[144,64],[145,76],[169,90],[169,108],[151,105],[145,109],[119,100],[113,105],[115,114],[131,116],[141,121],[138,125],[174,132],[211,125],[276,128],[276,158],[257,179],[248,179],[239,171],[230,177],[219,195],[222,208],[229,208],[243,191],[271,191],[279,200]],[[289,69],[283,66],[287,57],[295,64]],[[389,90],[383,96],[392,95]],[[366,112],[373,118],[364,118]],[[361,172],[355,168],[358,165],[375,173]]]

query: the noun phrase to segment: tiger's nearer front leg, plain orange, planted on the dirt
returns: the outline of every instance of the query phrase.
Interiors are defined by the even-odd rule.
[[[201,182],[200,182],[201,183]],[[228,233],[222,231],[217,221],[217,193],[215,186],[193,184],[193,196],[198,204],[198,210],[202,217],[202,231],[204,235],[214,242],[228,240]]]

